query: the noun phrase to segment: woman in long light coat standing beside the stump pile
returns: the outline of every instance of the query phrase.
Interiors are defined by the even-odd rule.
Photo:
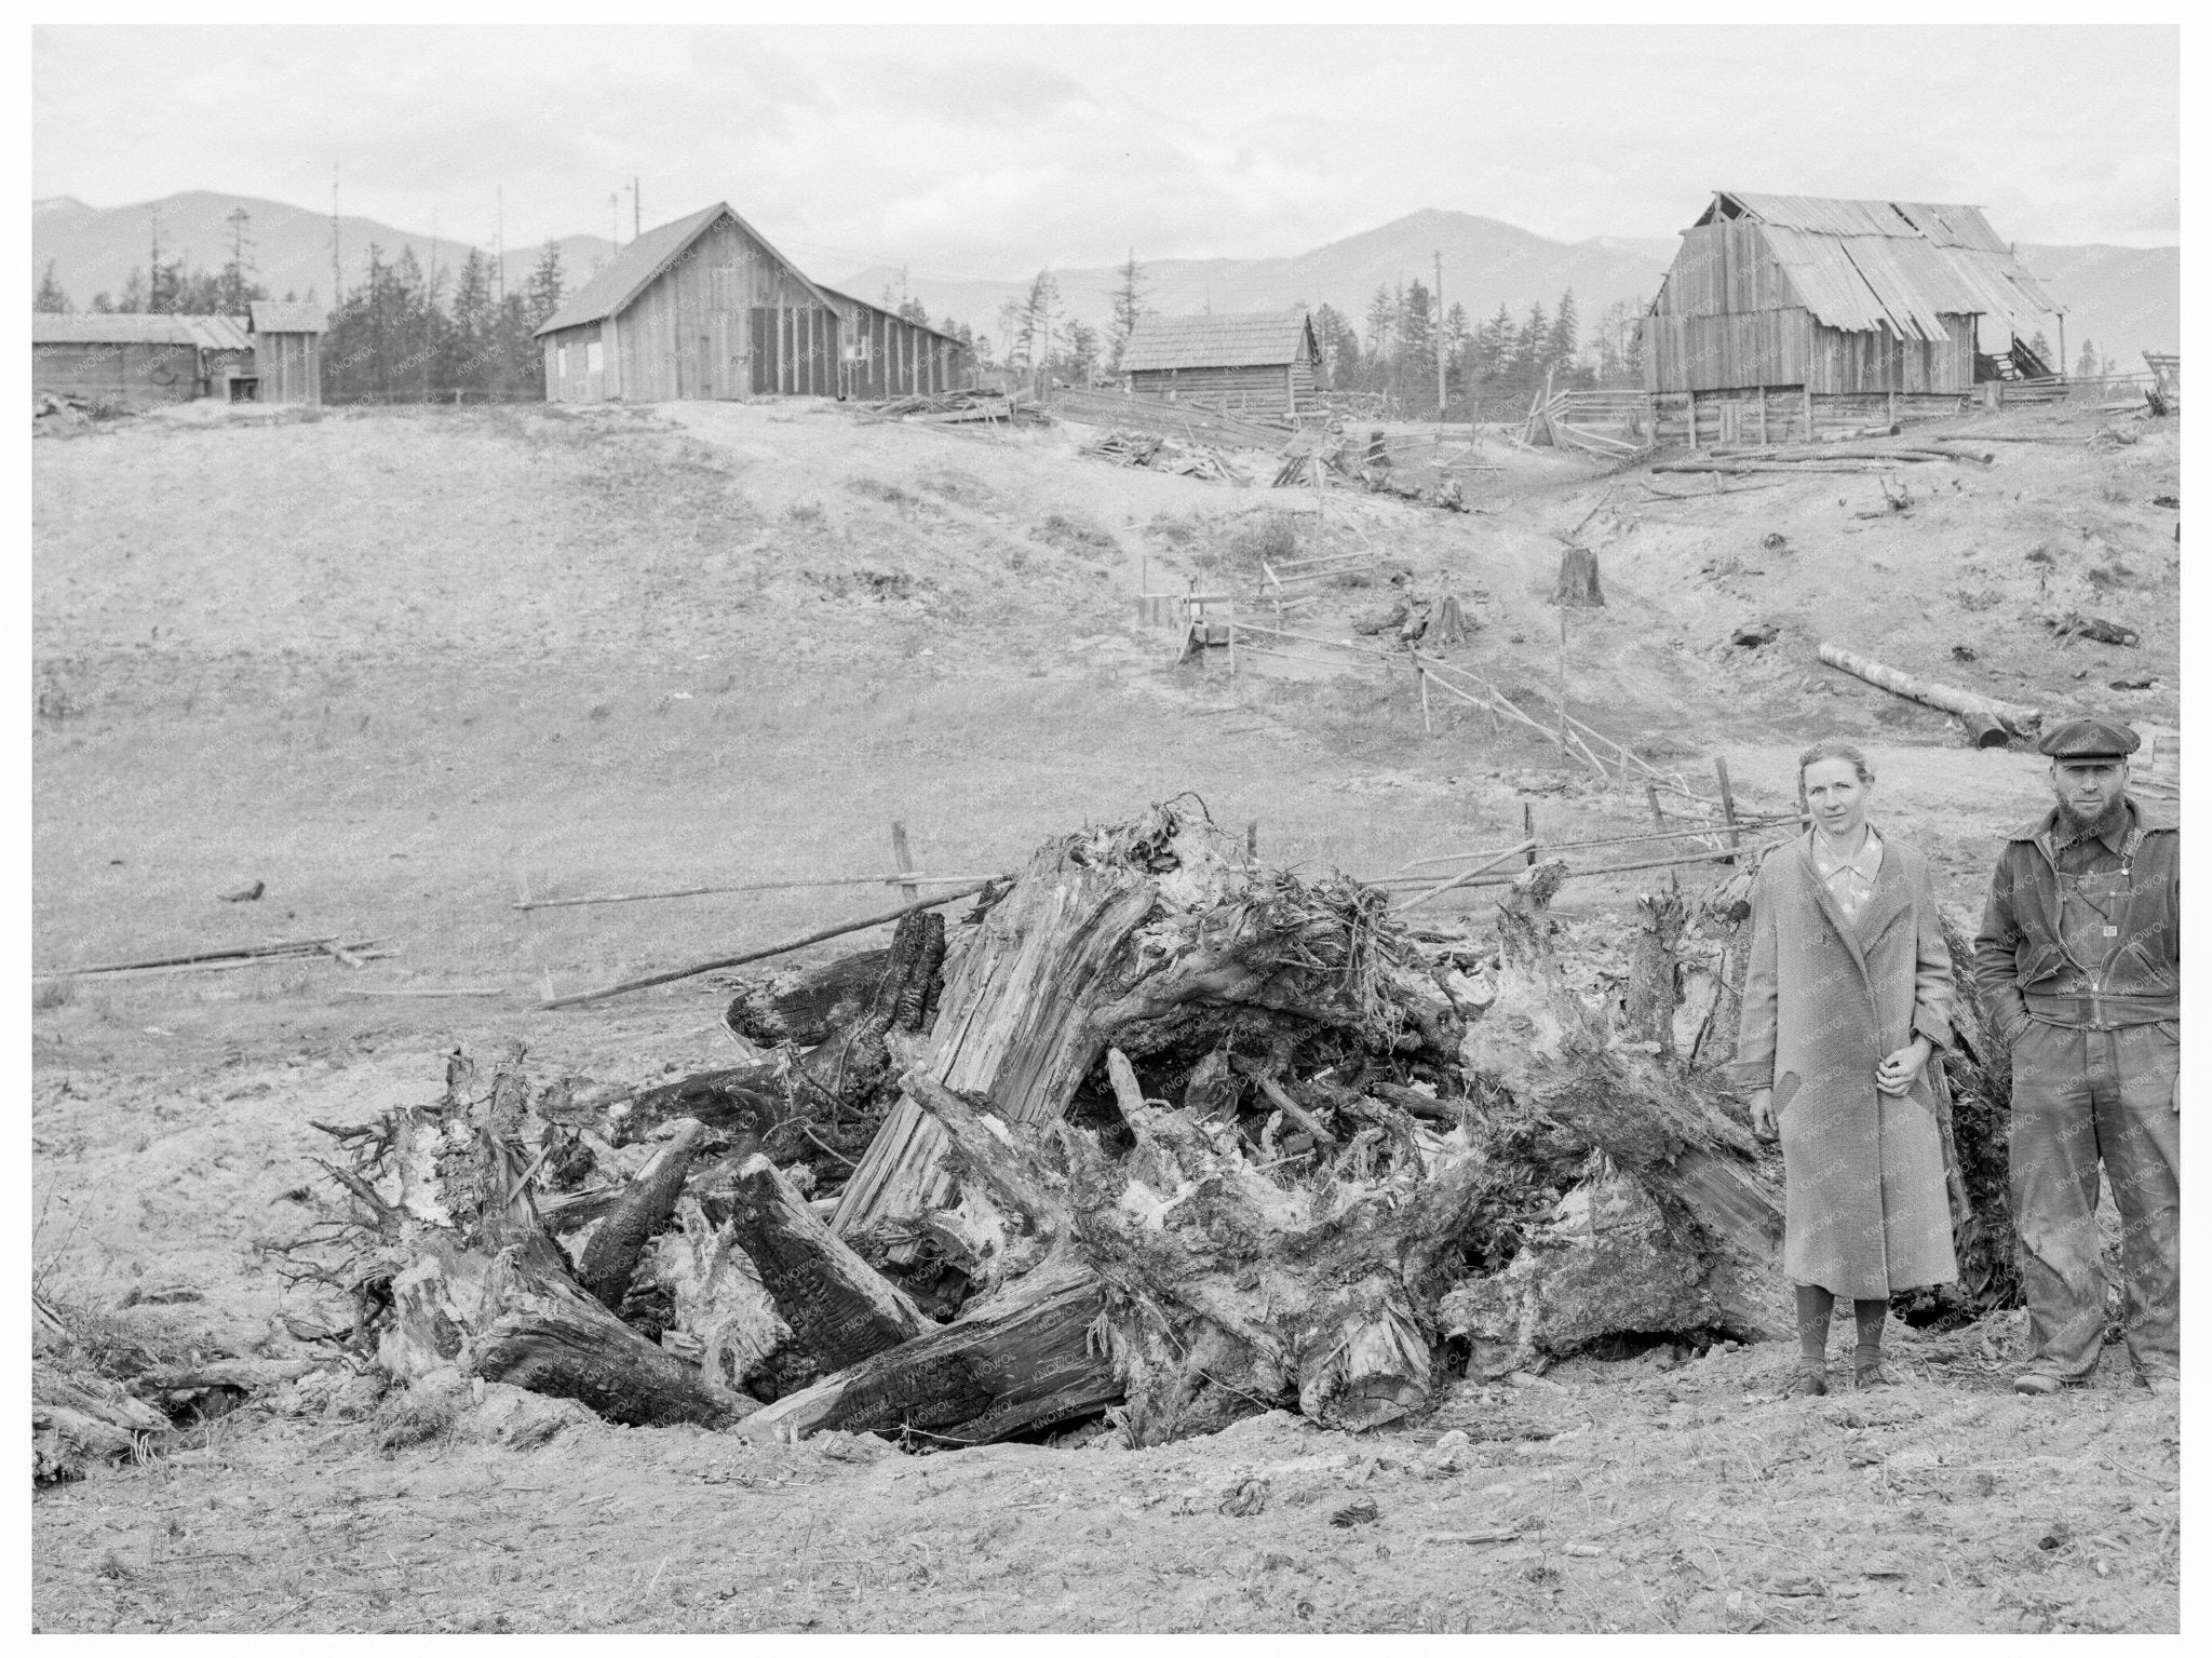
[[[1827,1393],[1838,1295],[1858,1313],[1854,1382],[1882,1386],[1889,1298],[1958,1278],[1929,1066],[1951,1046],[1951,953],[1927,860],[1867,822],[1865,756],[1814,743],[1798,780],[1812,829],[1752,882],[1736,1081],[1754,1132],[1783,1143],[1790,1393]]]

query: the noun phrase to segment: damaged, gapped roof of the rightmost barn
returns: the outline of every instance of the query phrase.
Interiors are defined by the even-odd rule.
[[[1829,327],[1940,340],[1944,314],[2002,316],[2015,332],[2057,314],[1980,208],[1714,190],[1697,223],[1723,219],[1765,228],[1798,303]]]

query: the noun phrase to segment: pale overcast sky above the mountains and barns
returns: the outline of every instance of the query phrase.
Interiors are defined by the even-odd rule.
[[[728,199],[810,267],[1296,254],[1416,208],[1670,237],[1712,188],[2179,241],[2174,29],[40,29],[33,195],[509,245]],[[630,208],[622,201],[622,234]]]

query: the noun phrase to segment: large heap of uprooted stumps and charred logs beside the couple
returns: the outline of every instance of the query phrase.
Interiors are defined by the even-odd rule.
[[[1741,964],[1683,973],[1659,895],[1593,1001],[1562,878],[1495,937],[1416,931],[1170,802],[748,986],[759,1066],[622,1090],[456,1054],[440,1099],[330,1130],[354,1340],[626,1424],[960,1446],[1374,1428],[1601,1340],[1783,1333],[1778,1163],[1705,1070]]]

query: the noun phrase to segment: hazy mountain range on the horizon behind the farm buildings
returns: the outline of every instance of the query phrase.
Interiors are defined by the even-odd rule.
[[[73,197],[46,197],[31,203],[31,283],[53,263],[55,281],[86,307],[97,292],[122,290],[133,267],[144,270],[155,221],[164,256],[181,256],[186,267],[219,270],[230,259],[230,212],[246,208],[250,219],[252,263],[259,279],[276,296],[288,292],[319,298],[330,294],[330,214],[294,208],[283,201],[230,197],[212,190],[166,197],[128,208],[91,208]],[[774,237],[774,225],[763,225]],[[376,219],[338,221],[345,285],[356,285],[367,272],[369,243],[385,259],[414,248],[416,261],[429,270],[451,270],[467,243],[400,230]],[[575,287],[599,270],[615,252],[606,237],[560,237],[562,267]],[[1471,212],[1425,208],[1374,230],[1332,241],[1283,259],[1148,259],[1144,263],[1146,303],[1155,312],[1256,312],[1296,303],[1334,305],[1356,323],[1365,318],[1376,287],[1396,287],[1416,276],[1436,285],[1436,259],[1442,256],[1447,305],[1464,305],[1482,321],[1500,305],[1524,316],[1542,303],[1557,305],[1564,290],[1575,290],[1582,327],[1597,323],[1615,301],[1648,301],[1674,259],[1674,239],[1593,237],[1588,241],[1553,241],[1498,219]],[[1137,250],[1141,256],[1141,248]],[[2112,248],[2112,245],[2031,245],[2020,243],[2022,263],[2044,281],[2066,316],[2066,345],[2081,351],[2095,340],[2099,356],[2110,356],[2121,369],[2141,367],[2143,349],[2179,349],[2181,345],[2181,250],[2179,248]],[[540,248],[507,250],[509,287],[524,281]],[[821,272],[812,272],[821,276]],[[1102,327],[1113,316],[1115,267],[1055,270],[1062,307],[1068,316]],[[836,279],[836,287],[863,298],[918,298],[936,321],[960,321],[978,334],[1000,334],[998,309],[1020,301],[1029,281],[958,281],[907,274],[894,265]],[[2053,345],[2057,338],[2053,336]]]

